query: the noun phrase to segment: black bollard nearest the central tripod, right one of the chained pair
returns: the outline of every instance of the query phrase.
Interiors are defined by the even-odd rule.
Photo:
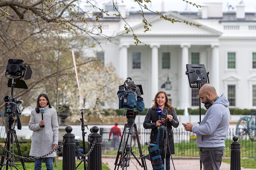
[[[101,160],[101,135],[97,132],[99,127],[93,126],[90,129],[91,134],[88,135],[88,142],[90,148],[93,146],[94,140],[96,140],[95,145],[88,155],[88,169],[89,170],[102,170],[102,160]]]

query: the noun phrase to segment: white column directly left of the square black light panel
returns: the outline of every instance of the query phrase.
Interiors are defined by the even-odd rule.
[[[181,61],[181,67],[180,67],[180,72],[181,72],[181,82],[178,88],[179,91],[179,104],[178,108],[184,109],[185,107],[189,107],[189,79],[187,75],[185,74],[187,68],[186,64],[189,64],[189,44],[182,44],[180,45],[182,48],[182,61]]]

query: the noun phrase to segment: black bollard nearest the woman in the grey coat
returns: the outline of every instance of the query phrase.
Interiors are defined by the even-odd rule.
[[[63,144],[63,170],[75,170],[76,169],[76,156],[75,156],[75,135],[72,134],[72,127],[67,126],[65,128],[66,134],[63,136],[65,142]]]

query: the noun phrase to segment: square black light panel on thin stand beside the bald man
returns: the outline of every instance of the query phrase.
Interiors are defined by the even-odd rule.
[[[187,64],[187,71],[186,75],[188,75],[189,78],[189,86],[191,88],[200,88],[204,84],[210,83],[209,81],[209,72],[206,72],[206,69],[204,67],[204,64],[197,64],[197,65],[191,65]],[[201,123],[201,99],[199,97],[199,124]],[[202,161],[200,159],[200,170],[202,170]]]

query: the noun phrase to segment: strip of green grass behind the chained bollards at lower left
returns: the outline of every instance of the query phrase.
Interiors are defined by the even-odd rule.
[[[80,160],[76,160],[76,166],[80,163]],[[17,165],[19,164],[19,165]],[[27,170],[33,170],[34,169],[34,162],[25,162],[25,166]],[[54,163],[53,163],[54,165]],[[19,169],[22,170],[23,167],[21,165],[21,162],[15,162],[15,166]],[[45,162],[42,163],[42,169],[46,169],[46,164]],[[62,170],[62,160],[58,160],[57,167],[54,167],[54,170]],[[81,163],[77,170],[84,170],[84,164]],[[102,164],[102,170],[110,170],[105,164]]]

